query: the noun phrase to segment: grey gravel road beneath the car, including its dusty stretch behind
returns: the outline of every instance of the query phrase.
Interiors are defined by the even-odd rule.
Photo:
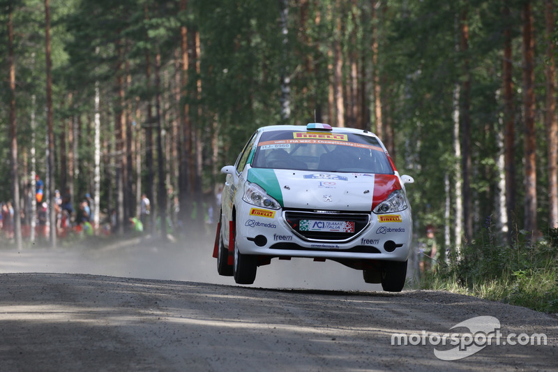
[[[0,371],[558,371],[556,315],[381,292],[334,262],[273,260],[238,286],[208,241],[0,247]],[[499,344],[485,325],[451,329],[479,319]],[[455,332],[463,347],[442,345]]]

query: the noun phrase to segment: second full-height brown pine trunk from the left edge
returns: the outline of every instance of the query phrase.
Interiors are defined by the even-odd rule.
[[[56,211],[54,210],[54,117],[52,115],[52,59],[50,57],[50,6],[45,0],[45,60],[47,64],[47,138],[48,138],[48,202],[50,246],[56,247]]]

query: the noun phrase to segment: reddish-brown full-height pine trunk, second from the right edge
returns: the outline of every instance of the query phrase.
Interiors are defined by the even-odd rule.
[[[536,133],[534,96],[534,38],[531,2],[522,6],[523,111],[525,112],[525,230],[536,239]]]

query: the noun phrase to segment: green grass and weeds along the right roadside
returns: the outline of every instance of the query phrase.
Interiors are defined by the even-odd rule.
[[[513,245],[495,244],[490,229],[478,239],[423,274],[421,289],[448,290],[464,295],[558,313],[558,229],[531,246],[519,232]]]

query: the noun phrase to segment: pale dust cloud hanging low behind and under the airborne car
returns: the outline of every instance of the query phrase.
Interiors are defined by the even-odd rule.
[[[0,245],[0,273],[93,274],[236,285],[232,277],[217,274],[217,260],[212,257],[214,237],[209,233],[171,238],[163,242],[145,235],[121,241],[89,237],[70,244],[62,241],[58,248],[36,245],[19,252],[3,244]],[[274,258],[271,265],[258,268],[251,286],[382,290],[380,285],[364,283],[362,271],[329,260],[314,262],[308,258]]]

